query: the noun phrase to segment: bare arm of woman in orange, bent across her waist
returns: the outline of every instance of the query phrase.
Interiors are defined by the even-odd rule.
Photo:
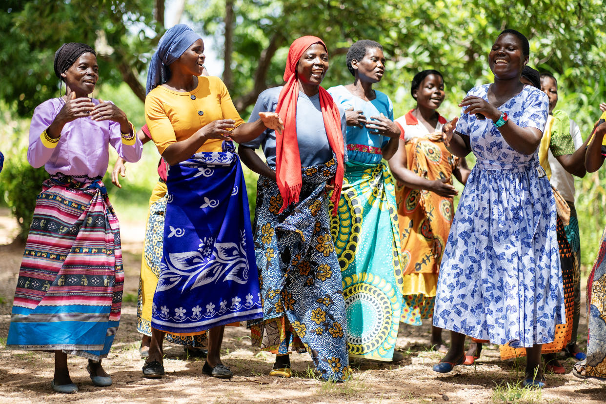
[[[406,147],[404,139],[399,139],[399,147],[396,153],[387,161],[391,174],[408,188],[413,190],[428,190],[441,196],[454,196],[457,191],[450,184],[446,184],[448,178],[440,180],[429,180],[408,170]]]

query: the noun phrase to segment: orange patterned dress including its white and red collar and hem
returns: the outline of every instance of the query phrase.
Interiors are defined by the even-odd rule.
[[[396,119],[406,141],[407,168],[428,180],[448,178],[459,164],[442,142],[441,129],[446,120],[429,133],[412,111]],[[451,197],[427,190],[414,190],[396,184],[402,267],[404,268],[404,303],[402,322],[421,325],[421,319],[433,317],[438,271],[444,245],[452,224],[454,208]]]

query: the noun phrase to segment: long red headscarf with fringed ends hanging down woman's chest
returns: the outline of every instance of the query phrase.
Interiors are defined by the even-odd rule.
[[[290,45],[288,49],[288,58],[286,68],[284,69],[284,81],[286,84],[278,98],[278,107],[276,113],[284,121],[284,132],[276,131],[276,181],[284,204],[280,211],[283,211],[293,202],[299,202],[301,193],[301,156],[299,156],[299,143],[297,141],[297,99],[299,98],[299,82],[297,80],[296,66],[297,62],[313,44],[321,44],[325,49],[326,45],[322,39],[317,36],[302,36]],[[328,51],[328,50],[327,50]],[[324,127],[328,136],[328,144],[337,156],[337,172],[335,177],[330,180],[330,184],[335,185],[331,200],[335,204],[333,214],[336,214],[341,197],[341,187],[343,185],[344,173],[344,145],[343,134],[341,131],[341,113],[337,108],[335,101],[324,90],[319,87],[320,108],[322,118],[324,118]]]

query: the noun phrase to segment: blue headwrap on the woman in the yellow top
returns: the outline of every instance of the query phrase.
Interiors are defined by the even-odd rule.
[[[158,49],[151,56],[145,94],[167,81],[170,75],[168,65],[179,59],[179,56],[183,55],[183,52],[198,39],[202,39],[202,37],[185,24],[177,24],[162,35]]]

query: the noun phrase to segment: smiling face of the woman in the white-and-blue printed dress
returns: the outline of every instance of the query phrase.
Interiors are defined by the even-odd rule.
[[[488,53],[490,70],[501,80],[519,77],[527,63],[528,56],[524,56],[522,42],[511,33],[500,35]]]

